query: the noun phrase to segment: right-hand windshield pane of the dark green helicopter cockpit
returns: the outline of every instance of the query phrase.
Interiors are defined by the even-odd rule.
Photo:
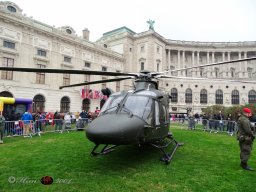
[[[153,100],[146,96],[129,96],[122,106],[121,112],[130,112],[144,119],[148,124],[152,123]]]

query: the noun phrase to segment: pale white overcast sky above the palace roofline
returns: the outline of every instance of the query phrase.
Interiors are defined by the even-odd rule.
[[[166,39],[256,41],[256,0],[10,0],[23,14],[55,27],[70,26],[90,40],[126,26],[147,31],[147,21]]]

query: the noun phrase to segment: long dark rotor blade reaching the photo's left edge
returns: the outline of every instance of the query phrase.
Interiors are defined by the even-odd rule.
[[[68,70],[68,69],[47,69],[47,68],[23,68],[23,67],[0,67],[0,71],[18,71],[18,72],[35,72],[35,73],[66,73],[81,75],[109,75],[109,76],[134,76],[135,73],[121,73],[108,71],[89,71],[89,70]]]

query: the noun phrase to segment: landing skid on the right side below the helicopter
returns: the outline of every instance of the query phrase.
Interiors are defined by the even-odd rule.
[[[182,146],[184,143],[178,143],[172,133],[168,133],[168,136],[166,137],[169,141],[167,141],[166,143],[166,140],[162,140],[161,142],[163,142],[163,144],[154,144],[154,143],[151,143],[151,145],[157,149],[160,149],[162,152],[163,152],[163,157],[160,159],[161,161],[165,162],[165,164],[169,164],[170,161],[172,160],[176,150],[178,149],[179,146]],[[174,149],[172,150],[171,154],[170,153],[167,153],[166,152],[166,148],[170,145],[170,144],[174,144]]]

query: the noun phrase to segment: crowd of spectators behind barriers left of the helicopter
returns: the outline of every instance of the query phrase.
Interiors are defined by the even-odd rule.
[[[77,129],[83,129],[86,123],[99,115],[99,112],[98,107],[94,112],[82,110],[75,113],[60,113],[56,110],[54,113],[26,111],[23,114],[15,114],[13,111],[7,115],[0,112],[0,144],[3,143],[3,136],[32,137],[33,134],[41,136],[47,126],[52,126],[54,131],[61,133],[63,130],[71,129],[72,124],[75,124]]]

